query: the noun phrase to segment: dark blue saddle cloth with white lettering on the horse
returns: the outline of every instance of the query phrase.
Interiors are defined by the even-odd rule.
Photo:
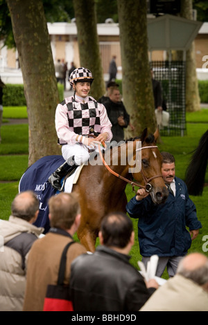
[[[49,176],[64,163],[62,156],[45,156],[29,167],[19,182],[19,192],[32,190],[40,201],[40,212],[34,225],[43,227],[44,233],[50,229],[48,200],[58,191],[49,183]]]

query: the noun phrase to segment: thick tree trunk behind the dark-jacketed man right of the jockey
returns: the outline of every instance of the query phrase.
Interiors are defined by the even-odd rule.
[[[117,0],[121,41],[123,102],[139,136],[156,128],[153,86],[148,61],[146,0]]]

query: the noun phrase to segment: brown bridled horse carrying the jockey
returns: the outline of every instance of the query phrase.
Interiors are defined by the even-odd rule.
[[[156,145],[158,136],[158,129],[150,135],[145,129],[140,138],[131,139],[116,147],[112,146],[105,151],[101,151],[100,148],[100,154],[96,156],[94,164],[83,165],[80,176],[76,184],[73,185],[72,192],[78,194],[80,201],[81,220],[77,231],[78,239],[87,250],[94,252],[101,221],[106,214],[110,212],[126,213],[125,187],[128,183],[132,185],[133,190],[135,186],[145,188],[155,204],[164,203],[166,200],[168,190],[162,178],[162,157]],[[138,148],[139,143],[141,146]],[[130,156],[130,152],[132,156]],[[138,155],[140,155],[140,160]],[[53,156],[57,165],[55,166],[51,163],[52,156],[46,157],[49,164],[53,165],[52,172],[62,163],[63,159],[62,156]],[[125,161],[121,163],[121,160]],[[137,165],[137,160],[140,161],[140,165],[138,164],[137,168],[134,169],[132,166],[133,164]],[[55,194],[55,189],[52,189],[51,184],[47,181],[51,170],[47,173],[44,172],[46,165],[42,163],[39,172],[36,163],[31,165],[21,177],[19,192],[26,189],[36,189],[36,193],[40,191],[38,194],[41,202],[40,213],[48,214],[43,196],[46,194],[45,196],[49,198]],[[30,176],[31,168],[32,176]],[[41,185],[37,185],[35,172],[39,176],[42,174],[42,180],[39,182]],[[33,179],[33,186],[28,184],[31,179]],[[42,190],[44,194],[42,194]],[[64,192],[66,191],[64,190]],[[39,216],[37,220],[42,221],[40,219],[42,216]],[[48,216],[44,216],[44,224],[39,223],[38,225],[49,227]]]

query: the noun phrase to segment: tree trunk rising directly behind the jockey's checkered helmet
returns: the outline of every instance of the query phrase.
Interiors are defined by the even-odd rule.
[[[94,82],[90,95],[96,100],[105,93],[103,68],[98,44],[94,0],[73,0],[78,32],[80,64],[92,71]]]

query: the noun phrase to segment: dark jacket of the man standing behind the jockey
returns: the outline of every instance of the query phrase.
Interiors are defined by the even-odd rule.
[[[124,127],[128,127],[128,124],[130,122],[130,115],[125,110],[125,106],[123,105],[123,102],[114,103],[110,98],[103,103],[105,106],[105,109],[107,111],[107,116],[112,124],[112,140],[111,141],[123,141],[124,140]],[[123,115],[123,118],[125,120],[125,125],[121,127],[118,124],[118,118],[119,116]]]

